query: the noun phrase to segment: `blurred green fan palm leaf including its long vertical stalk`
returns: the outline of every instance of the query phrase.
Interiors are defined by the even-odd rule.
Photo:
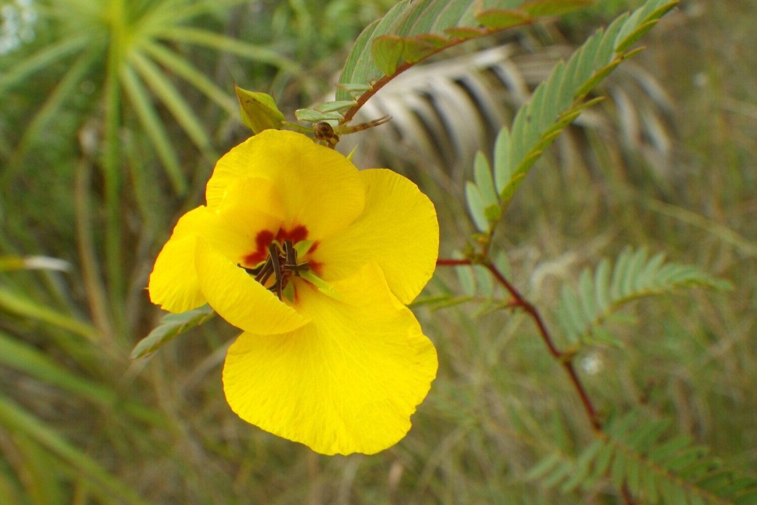
[[[115,327],[121,333],[126,332],[127,326],[123,315],[127,291],[122,231],[125,221],[122,187],[126,184],[123,168],[131,165],[132,178],[143,185],[160,185],[159,176],[143,173],[142,164],[132,163],[129,142],[134,137],[144,137],[173,191],[184,195],[189,182],[182,160],[191,157],[185,154],[185,148],[179,148],[182,135],[177,136],[174,130],[183,133],[207,164],[215,161],[217,153],[206,120],[190,104],[188,89],[182,88],[175,77],[183,79],[189,89],[209,98],[229,116],[238,115],[235,99],[185,58],[180,51],[182,46],[228,51],[273,65],[283,73],[298,68],[271,48],[192,26],[198,20],[212,20],[213,15],[223,14],[241,3],[241,0],[41,0],[34,4],[40,15],[38,23],[48,30],[40,36],[39,47],[31,46],[31,54],[20,55],[22,58],[9,58],[5,68],[0,64],[0,99],[12,102],[9,98],[15,95],[11,92],[22,91],[20,87],[36,77],[41,83],[55,83],[46,90],[44,98],[32,102],[30,119],[21,129],[0,174],[4,186],[11,187],[20,170],[25,170],[26,154],[36,151],[50,138],[49,134],[42,134],[69,109],[68,104],[76,102],[79,111],[91,112],[87,128],[81,128],[87,114],[76,116],[74,126],[80,136],[95,130],[92,136],[95,142],[83,145],[82,150],[86,158],[99,159],[103,176],[104,270]],[[82,86],[93,87],[91,100],[83,98]],[[89,103],[82,104],[83,100]],[[129,131],[136,135],[127,135]]]

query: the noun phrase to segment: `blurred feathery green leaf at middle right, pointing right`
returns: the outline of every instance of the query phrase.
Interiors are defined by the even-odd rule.
[[[623,251],[614,265],[606,258],[597,271],[581,272],[578,289],[563,285],[556,316],[571,344],[620,342],[604,328],[612,314],[631,301],[671,294],[681,288],[731,289],[731,283],[717,279],[696,267],[665,263],[665,254],[649,257],[646,248]]]

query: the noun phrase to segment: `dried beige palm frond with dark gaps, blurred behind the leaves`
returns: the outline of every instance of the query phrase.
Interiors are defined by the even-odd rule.
[[[375,166],[378,161],[365,157],[378,154],[391,159],[393,166],[422,167],[457,193],[476,151],[491,152],[494,133],[512,122],[557,61],[572,51],[559,45],[534,50],[512,42],[412,67],[374,95],[355,120],[389,114],[389,126],[380,132],[366,130],[367,139],[344,136],[340,149],[348,152],[358,142],[379,145],[378,152],[358,150],[356,157],[364,158],[357,164]],[[632,62],[619,67],[617,74],[599,87],[600,95],[609,95],[606,104],[584,111],[566,131],[567,138],[557,143],[559,161],[582,161],[592,167],[594,146],[585,139],[599,134],[621,157],[640,151],[654,169],[665,173],[672,154],[671,101],[650,73]]]

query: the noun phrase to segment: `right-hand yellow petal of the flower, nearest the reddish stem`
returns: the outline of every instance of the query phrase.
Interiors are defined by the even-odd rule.
[[[347,229],[322,240],[312,257],[323,279],[344,279],[369,261],[384,272],[403,304],[419,295],[434,273],[439,223],[434,204],[409,179],[391,170],[363,170],[363,214]]]

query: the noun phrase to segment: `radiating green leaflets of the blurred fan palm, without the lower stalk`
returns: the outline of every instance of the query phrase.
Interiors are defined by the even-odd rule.
[[[120,109],[136,112],[140,128],[150,139],[160,158],[173,189],[182,194],[188,189],[187,179],[179,164],[179,154],[170,142],[167,125],[160,120],[157,104],[176,120],[192,143],[208,157],[214,157],[210,137],[196,111],[167,73],[181,77],[192,87],[218,104],[229,115],[237,114],[229,92],[204,76],[176,48],[177,43],[198,45],[229,51],[254,61],[271,64],[288,71],[297,65],[276,51],[249,44],[204,28],[188,26],[198,17],[218,13],[241,0],[207,2],[207,0],[62,0],[39,2],[40,23],[50,26],[52,40],[32,55],[2,69],[0,98],[8,89],[19,86],[36,73],[55,72],[65,66],[58,83],[36,111],[11,155],[11,166],[17,167],[25,151],[33,145],[64,104],[85,79],[93,79],[104,91],[106,117],[104,139],[114,141]],[[102,69],[106,69],[104,72]],[[101,77],[104,76],[104,77]],[[123,92],[123,98],[121,96]],[[114,144],[116,142],[113,142]],[[112,146],[111,149],[114,149]],[[104,163],[113,165],[117,156],[108,152]],[[106,173],[116,173],[106,166]],[[12,173],[12,171],[11,171]],[[5,174],[5,180],[12,175]]]

